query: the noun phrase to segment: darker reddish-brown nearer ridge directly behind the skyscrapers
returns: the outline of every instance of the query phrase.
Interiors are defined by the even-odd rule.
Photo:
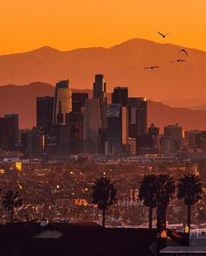
[[[75,92],[87,92],[90,97],[92,90],[73,89]],[[0,115],[18,113],[20,127],[31,128],[36,125],[36,98],[52,96],[54,87],[41,82],[31,83],[28,86],[0,86]],[[108,96],[110,96],[108,94]],[[138,95],[137,95],[138,96]],[[11,100],[12,99],[12,100]],[[168,124],[178,122],[185,129],[205,129],[206,111],[194,111],[187,108],[168,107],[161,102],[148,100],[148,125],[163,128]]]

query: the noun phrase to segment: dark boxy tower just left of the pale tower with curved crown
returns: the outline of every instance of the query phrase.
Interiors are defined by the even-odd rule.
[[[45,135],[52,134],[53,100],[49,96],[37,98],[37,127]]]

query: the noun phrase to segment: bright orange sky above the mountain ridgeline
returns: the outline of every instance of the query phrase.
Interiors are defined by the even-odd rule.
[[[0,0],[0,54],[162,39],[206,51],[205,0]]]

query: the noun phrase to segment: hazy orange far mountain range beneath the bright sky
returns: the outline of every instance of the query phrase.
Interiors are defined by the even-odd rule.
[[[196,99],[206,95],[206,53],[182,46],[157,44],[134,38],[111,48],[86,48],[61,52],[50,47],[0,56],[0,85],[24,85],[72,80],[72,87],[91,88],[95,73],[105,73],[107,91],[128,86],[130,96],[151,100]],[[185,59],[183,63],[171,63]],[[146,70],[144,66],[161,66]],[[202,103],[200,104],[202,105]]]

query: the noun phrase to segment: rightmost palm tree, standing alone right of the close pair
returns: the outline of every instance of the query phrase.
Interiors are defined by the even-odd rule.
[[[178,184],[177,197],[184,199],[188,208],[188,226],[191,225],[191,206],[196,204],[203,197],[203,189],[200,178],[195,174],[185,174]]]

